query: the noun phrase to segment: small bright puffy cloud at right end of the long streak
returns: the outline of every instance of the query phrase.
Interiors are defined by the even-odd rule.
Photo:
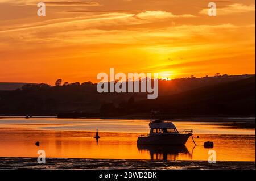
[[[174,15],[171,12],[166,11],[146,11],[141,12],[136,15],[137,18],[141,19],[162,19],[162,18],[192,18],[195,17],[191,14],[184,14],[184,15]]]

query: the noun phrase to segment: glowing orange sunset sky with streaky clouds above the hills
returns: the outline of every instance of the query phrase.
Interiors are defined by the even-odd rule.
[[[255,0],[0,0],[0,82],[255,74]]]

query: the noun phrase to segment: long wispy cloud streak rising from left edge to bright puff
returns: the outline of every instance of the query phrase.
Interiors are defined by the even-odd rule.
[[[84,11],[82,11],[84,12]],[[86,11],[85,12],[97,12],[97,11]],[[105,12],[105,11],[99,11]],[[124,11],[106,11],[106,13],[80,16],[76,18],[60,18],[60,19],[52,19],[46,20],[43,22],[35,22],[35,23],[28,23],[23,26],[16,26],[13,27],[2,27],[0,33],[7,33],[7,32],[15,32],[15,31],[27,31],[27,30],[34,30],[34,29],[42,29],[42,28],[53,28],[53,27],[67,27],[72,26],[73,24],[80,24],[80,26],[85,27],[89,23],[94,23],[94,27],[97,26],[97,22],[108,21],[107,24],[116,24],[117,20],[119,23],[123,25],[132,25],[132,24],[145,24],[148,23],[148,20],[157,21],[158,19],[166,19],[166,18],[180,18],[180,17],[194,17],[193,15],[173,15],[171,12],[164,12],[164,11],[146,11],[146,12],[139,12],[136,14],[135,12]],[[101,24],[102,25],[102,24]]]

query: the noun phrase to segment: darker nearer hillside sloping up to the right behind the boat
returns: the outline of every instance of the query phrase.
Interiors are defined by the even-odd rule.
[[[135,112],[163,115],[255,115],[255,76],[134,103]]]

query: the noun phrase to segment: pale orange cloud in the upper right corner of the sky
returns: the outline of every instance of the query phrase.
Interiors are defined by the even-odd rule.
[[[228,5],[226,7],[216,7],[217,15],[225,15],[225,14],[235,14],[235,13],[245,13],[245,12],[255,12],[255,4],[254,5],[243,5],[239,3],[235,3],[232,5]],[[200,14],[208,14],[209,9],[203,9],[200,11]]]

